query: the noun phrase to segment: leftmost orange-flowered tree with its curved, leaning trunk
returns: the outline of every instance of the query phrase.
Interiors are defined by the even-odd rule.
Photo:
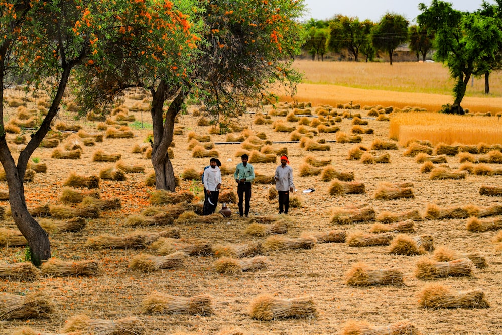
[[[159,50],[149,34],[163,31],[170,40],[169,32],[176,32],[176,39],[185,36],[191,24],[173,2],[162,0],[0,0],[0,14],[0,93],[4,96],[13,82],[24,82],[27,89],[43,86],[51,97],[47,114],[17,162],[7,145],[0,104],[0,163],[6,172],[12,215],[28,241],[32,262],[39,265],[51,257],[51,248],[46,232],[28,212],[23,180],[30,156],[58,113],[70,76],[87,73],[87,80],[106,78],[104,74],[114,66],[112,58],[119,56],[117,50],[129,57],[139,52],[140,60],[163,56],[174,62],[173,50]],[[145,71],[164,73],[165,68],[146,67]]]

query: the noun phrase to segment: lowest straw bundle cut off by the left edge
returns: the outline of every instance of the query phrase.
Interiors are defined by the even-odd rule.
[[[0,294],[0,320],[46,318],[55,305],[43,291],[26,295]]]

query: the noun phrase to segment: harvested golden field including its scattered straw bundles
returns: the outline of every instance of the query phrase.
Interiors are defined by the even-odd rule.
[[[361,108],[364,104],[389,107],[391,103],[379,101],[394,101],[393,96],[380,94],[381,100],[354,103]],[[40,110],[43,105],[40,98],[18,90],[8,91],[6,98],[28,100],[25,108],[6,107],[9,117],[18,121],[27,111]],[[502,191],[500,143],[429,146],[426,139],[401,143],[389,138],[390,123],[396,115],[406,115],[404,112],[389,113],[382,108],[369,117],[370,109],[350,112],[337,108],[339,103],[350,102],[350,96],[326,99],[331,102],[322,107],[320,102],[312,107],[281,102],[275,109],[249,108],[230,134],[213,134],[211,126],[198,126],[204,112],[197,106],[180,117],[172,162],[180,177],[178,193],[194,192],[193,203],[203,200],[197,173],[208,165],[209,158],[192,157],[188,147],[193,149],[194,142],[189,137],[209,136],[213,149],[198,149],[199,153],[216,150],[226,171],[233,171],[243,150],[252,152],[252,160],[253,155],[261,160],[284,148],[294,171],[296,207],[289,215],[276,215],[277,199],[270,193],[273,185],[255,183],[249,219],[240,218],[235,214],[237,205],[229,203],[231,217],[215,216],[206,222],[180,212],[181,218],[167,222],[162,215],[172,213],[173,207],[152,208],[150,204],[155,189],[145,183],[153,168],[145,158],[151,119],[149,97],[144,92],[129,91],[121,113],[110,116],[106,123],[77,123],[71,111],[64,111],[56,123],[80,125],[80,134],[86,137],[61,132],[56,137],[59,155],[80,147],[80,158],[53,158],[55,149],[37,149],[33,158],[45,163],[47,171],[26,182],[25,193],[29,207],[48,204],[52,216],[63,217],[38,220],[49,233],[53,257],[68,263],[60,264],[58,271],[32,271],[32,280],[28,274],[20,277],[6,270],[25,260],[25,246],[6,246],[14,241],[13,233],[9,235],[6,229],[16,228],[8,215],[8,202],[0,201],[7,211],[0,222],[0,333],[501,333],[502,238],[497,230],[502,228],[502,207],[500,197],[484,195]],[[419,102],[406,105],[421,106]],[[395,101],[392,105],[399,106]],[[312,115],[299,116],[308,113]],[[497,122],[496,117],[465,118]],[[140,120],[146,128],[141,128]],[[122,131],[131,132],[132,137],[107,137],[117,134],[124,123],[129,128]],[[244,129],[239,131],[239,127]],[[7,135],[13,152],[22,148],[23,135],[25,140],[29,138],[22,133]],[[96,135],[103,136],[102,142]],[[250,138],[242,145],[217,144],[240,136]],[[301,140],[281,143],[292,138]],[[253,152],[260,147],[262,156]],[[112,154],[119,154],[121,162],[94,161],[97,156],[111,160]],[[253,165],[264,176],[261,179],[267,179],[278,164],[276,157],[275,163]],[[314,166],[323,164],[327,166]],[[119,199],[121,207],[103,207],[99,217],[85,218],[85,226],[75,232],[61,229],[71,221],[64,217],[81,213],[78,210],[83,206],[65,204],[71,208],[66,216],[61,216],[63,210],[53,211],[63,205],[63,184],[69,175],[114,175],[124,166],[143,167],[144,172],[116,178],[125,176],[126,180],[101,179],[98,188],[101,199],[115,199],[111,201],[115,204]],[[189,169],[195,170],[194,181],[182,178],[189,175]],[[221,193],[236,193],[233,175],[222,178]],[[0,183],[6,190],[5,181]],[[302,192],[307,189],[315,191]],[[83,191],[92,190],[75,189]],[[129,244],[124,249],[110,247],[117,240]],[[96,247],[99,241],[100,249]],[[56,260],[51,264],[58,268]],[[63,276],[63,270],[69,276]],[[437,292],[440,294],[435,295]],[[25,302],[23,307],[13,302],[21,298],[15,300],[12,295],[40,295],[46,303]],[[43,317],[22,317],[30,312]]]

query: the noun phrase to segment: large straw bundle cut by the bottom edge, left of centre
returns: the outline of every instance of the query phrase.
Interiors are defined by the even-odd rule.
[[[65,322],[62,332],[89,332],[100,335],[127,335],[144,332],[143,321],[138,317],[126,317],[116,320],[91,319],[80,314],[69,318]]]

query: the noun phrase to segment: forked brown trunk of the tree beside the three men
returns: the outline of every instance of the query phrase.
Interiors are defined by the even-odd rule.
[[[163,121],[163,106],[166,101],[167,86],[164,81],[159,83],[157,91],[152,91],[152,123],[154,141],[152,143],[152,165],[155,171],[155,188],[171,192],[176,191],[174,170],[167,150],[173,141],[174,119],[178,115],[187,94],[184,90],[178,92],[167,110],[166,120]]]

